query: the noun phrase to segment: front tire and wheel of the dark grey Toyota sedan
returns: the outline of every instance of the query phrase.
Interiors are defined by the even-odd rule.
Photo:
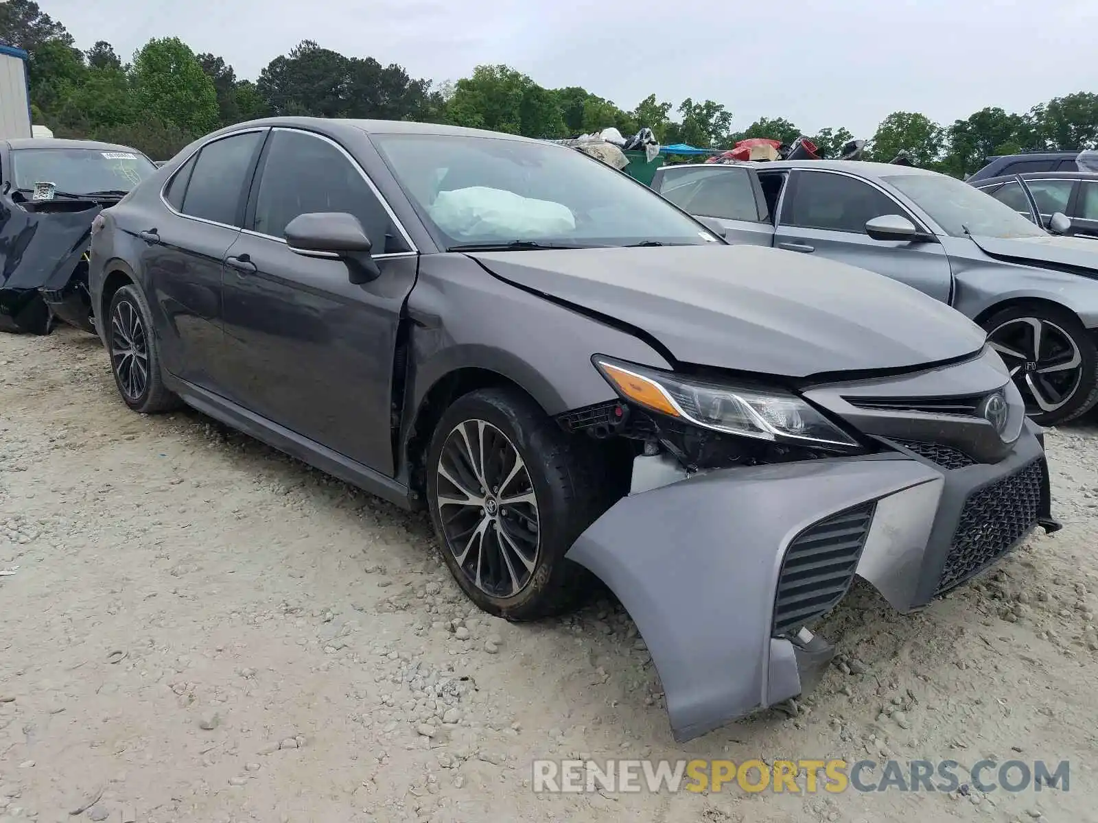
[[[590,590],[564,553],[608,505],[596,454],[516,390],[477,390],[446,409],[428,451],[427,503],[446,565],[477,606],[536,620]]]

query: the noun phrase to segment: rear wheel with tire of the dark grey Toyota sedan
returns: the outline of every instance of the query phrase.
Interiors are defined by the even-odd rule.
[[[105,320],[111,372],[123,402],[143,415],[177,407],[179,398],[164,385],[152,312],[141,290],[133,284],[119,289]]]

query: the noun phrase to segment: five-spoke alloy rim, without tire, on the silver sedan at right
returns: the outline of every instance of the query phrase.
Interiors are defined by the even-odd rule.
[[[993,329],[988,340],[1010,370],[1028,414],[1057,412],[1075,396],[1083,382],[1083,356],[1055,323],[1018,317]]]

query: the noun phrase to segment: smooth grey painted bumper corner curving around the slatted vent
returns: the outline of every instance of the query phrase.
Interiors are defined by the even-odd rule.
[[[777,641],[789,646],[785,659],[771,663],[788,542],[845,508],[940,481],[922,463],[887,458],[715,471],[624,497],[565,556],[637,623],[685,741],[800,694],[788,641]]]

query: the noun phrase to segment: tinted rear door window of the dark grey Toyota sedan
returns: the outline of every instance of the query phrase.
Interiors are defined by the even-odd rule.
[[[180,211],[226,226],[242,225],[242,199],[265,135],[266,132],[245,132],[203,146]]]

